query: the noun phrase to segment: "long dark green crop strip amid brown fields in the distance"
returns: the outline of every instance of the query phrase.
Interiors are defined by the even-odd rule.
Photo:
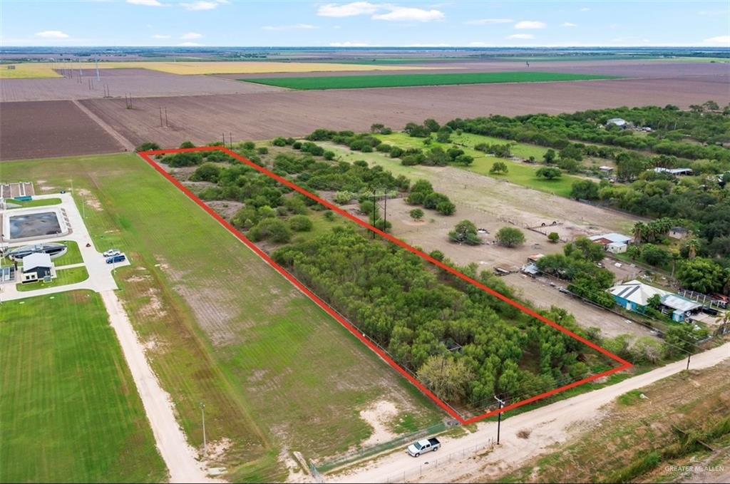
[[[239,79],[299,91],[326,89],[407,88],[426,85],[502,84],[618,79],[616,76],[561,72],[465,72],[464,74],[382,74],[331,77],[265,77]]]

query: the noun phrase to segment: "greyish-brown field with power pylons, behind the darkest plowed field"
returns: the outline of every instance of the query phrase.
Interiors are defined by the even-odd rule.
[[[103,98],[107,88],[110,96],[123,98],[148,96],[192,96],[207,94],[250,94],[280,91],[266,85],[237,82],[204,75],[178,76],[146,69],[104,69],[101,80],[96,72],[84,70],[73,77],[56,79],[0,79],[0,101],[50,101],[56,99]],[[91,80],[91,84],[89,82]]]

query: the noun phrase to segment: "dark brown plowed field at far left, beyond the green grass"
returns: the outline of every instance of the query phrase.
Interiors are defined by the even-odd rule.
[[[2,103],[0,112],[0,160],[123,151],[72,101]]]

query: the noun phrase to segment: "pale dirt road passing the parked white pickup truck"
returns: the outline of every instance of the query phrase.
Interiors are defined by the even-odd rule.
[[[692,369],[715,366],[730,358],[730,343],[706,351],[691,359]],[[459,439],[442,439],[443,448],[434,454],[412,458],[406,453],[393,453],[374,464],[347,475],[329,478],[328,482],[385,483],[385,482],[464,482],[469,477],[484,475],[492,469],[493,475],[517,466],[527,458],[534,458],[556,442],[564,442],[572,428],[579,428],[596,419],[600,408],[613,399],[637,388],[650,385],[672,374],[682,372],[686,360],[677,361],[652,372],[639,374],[590,393],[550,404],[530,412],[507,418],[502,423],[501,445],[483,457],[472,452],[475,445],[485,444],[496,436],[495,422],[482,423],[477,431]],[[509,414],[508,414],[509,415]],[[520,430],[531,431],[529,439],[520,439]]]

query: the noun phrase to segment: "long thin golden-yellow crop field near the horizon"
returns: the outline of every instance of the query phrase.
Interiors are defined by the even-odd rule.
[[[34,62],[15,64],[15,69],[0,69],[0,79],[30,77],[61,77],[59,69],[96,69],[93,63]],[[377,66],[359,64],[335,64],[327,62],[261,62],[261,61],[200,61],[200,62],[101,62],[99,69],[150,69],[170,74],[254,74],[258,72],[326,72],[326,71],[386,71],[407,70],[407,66]],[[423,69],[423,68],[421,68]]]

